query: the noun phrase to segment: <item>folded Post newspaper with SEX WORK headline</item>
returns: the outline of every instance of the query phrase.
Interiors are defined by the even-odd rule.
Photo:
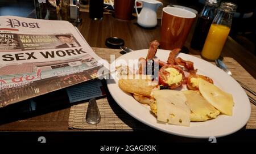
[[[67,21],[0,16],[0,108],[98,78],[100,59]]]

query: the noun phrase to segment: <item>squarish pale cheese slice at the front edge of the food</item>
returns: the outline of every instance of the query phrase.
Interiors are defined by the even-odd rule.
[[[157,104],[158,121],[172,125],[189,126],[190,109],[185,104],[185,95],[180,91],[155,90],[153,95]]]

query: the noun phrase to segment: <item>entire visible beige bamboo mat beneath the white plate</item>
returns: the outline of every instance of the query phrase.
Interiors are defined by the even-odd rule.
[[[114,54],[115,58],[118,58],[122,54],[119,49],[108,49],[108,48],[93,48],[94,52],[101,58],[110,62],[110,55]],[[194,55],[199,57],[200,55]],[[224,57],[224,63],[232,72],[234,79],[240,80],[240,82],[247,85],[247,87],[256,91],[256,82],[253,76],[251,76],[243,67],[235,61],[233,58]],[[214,64],[214,63],[213,63]],[[73,105],[69,113],[69,128],[72,129],[84,129],[84,130],[150,130],[151,127],[144,125],[137,121],[137,119],[131,117],[110,96],[108,89],[107,97],[98,99],[97,105],[101,113],[101,122],[97,125],[89,125],[85,121],[86,110],[88,102]],[[248,95],[256,99],[255,96],[247,92]],[[247,122],[246,129],[256,129],[256,106],[251,104],[251,117]]]

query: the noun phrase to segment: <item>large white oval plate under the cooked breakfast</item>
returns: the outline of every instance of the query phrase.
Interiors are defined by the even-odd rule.
[[[136,50],[122,55],[115,61],[122,59],[123,62],[128,62],[131,59],[146,57],[147,51],[147,49]],[[169,53],[169,50],[159,49],[156,53],[156,57],[162,61],[167,61]],[[181,57],[187,61],[192,61],[195,69],[198,69],[198,74],[209,76],[213,79],[214,85],[233,95],[234,106],[232,116],[218,115],[217,118],[210,119],[208,121],[191,122],[189,127],[158,122],[155,115],[150,111],[149,106],[140,104],[133,98],[133,96],[131,96],[130,93],[126,93],[118,87],[118,79],[114,78],[114,76],[114,79],[107,80],[108,89],[113,99],[123,110],[125,110],[125,112],[135,119],[138,119],[138,121],[169,134],[189,138],[209,138],[210,136],[220,137],[232,134],[245,126],[250,118],[251,108],[250,101],[240,84],[238,84],[231,76],[226,74],[226,72],[203,59],[184,53],[179,53],[177,57]],[[185,89],[187,88],[183,86],[181,90]]]

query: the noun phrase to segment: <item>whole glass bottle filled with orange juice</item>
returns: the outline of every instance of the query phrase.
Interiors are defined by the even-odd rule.
[[[209,61],[218,59],[222,48],[225,45],[226,38],[229,35],[232,24],[233,14],[237,5],[230,2],[222,2],[218,8],[218,14],[213,19],[212,25],[204,42],[201,56]]]

